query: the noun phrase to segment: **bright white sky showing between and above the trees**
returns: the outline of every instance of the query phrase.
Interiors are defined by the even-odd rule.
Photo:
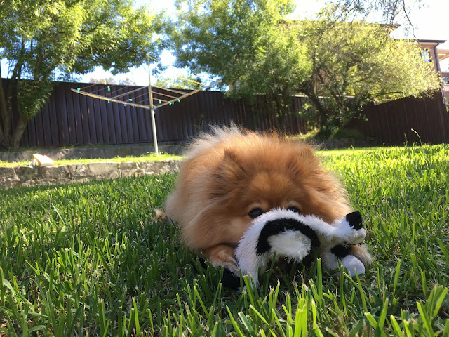
[[[165,9],[168,14],[175,11],[175,0],[135,0],[136,6],[147,5],[152,11],[158,13]],[[307,18],[317,13],[320,8],[326,3],[326,0],[295,0],[297,8],[293,13],[292,18]],[[414,1],[407,1],[410,4]],[[410,8],[409,18],[414,25],[414,29],[409,32],[404,31],[406,25],[404,22],[397,22],[401,27],[396,29],[393,33],[394,37],[409,37],[415,39],[429,39],[429,40],[447,40],[445,44],[438,46],[438,48],[449,49],[449,25],[448,25],[449,1],[448,0],[422,0],[420,6],[417,4]],[[163,72],[163,77],[175,78],[177,76],[186,76],[187,70],[176,69],[171,64],[175,58],[169,51],[165,51],[160,56],[161,62],[168,69]],[[1,62],[2,74],[6,74],[7,65],[4,60]],[[449,59],[441,62],[441,70],[449,70]],[[94,72],[85,74],[81,77],[81,81],[89,82],[91,78],[101,79],[112,77],[110,72],[105,72],[101,67],[98,67]],[[133,68],[127,74],[119,74],[114,77],[118,83],[120,79],[129,78],[139,86],[147,86],[148,81],[148,67],[142,65],[141,67]],[[152,79],[152,83],[156,79]]]

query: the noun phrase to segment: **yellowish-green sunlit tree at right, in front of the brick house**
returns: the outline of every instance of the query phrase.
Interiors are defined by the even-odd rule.
[[[438,74],[424,62],[415,41],[392,39],[394,26],[335,20],[335,7],[323,10],[319,20],[298,23],[307,46],[311,76],[297,90],[314,103],[321,136],[330,136],[367,103],[419,96],[438,90]],[[344,16],[340,16],[344,18]],[[326,97],[326,100],[321,99]],[[310,117],[310,116],[309,116]]]

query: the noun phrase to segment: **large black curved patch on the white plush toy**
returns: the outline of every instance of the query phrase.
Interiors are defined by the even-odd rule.
[[[319,247],[320,242],[314,230],[295,219],[276,219],[268,221],[260,231],[257,240],[257,254],[267,253],[270,249],[268,238],[273,235],[285,232],[286,230],[296,230],[311,239],[311,248]]]

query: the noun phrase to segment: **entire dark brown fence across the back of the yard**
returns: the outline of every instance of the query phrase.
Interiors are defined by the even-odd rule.
[[[132,144],[153,141],[149,110],[121,103],[107,103],[71,91],[89,86],[89,91],[99,95],[119,95],[133,91],[133,86],[108,86],[102,84],[76,84],[59,82],[41,112],[29,121],[22,138],[23,147],[62,147],[67,145]],[[86,90],[87,91],[87,90]],[[161,97],[163,91],[160,91]],[[155,96],[156,100],[159,98]],[[147,104],[148,91],[125,95],[123,99]],[[309,100],[295,96],[286,118],[288,133],[305,131],[305,121],[298,113]],[[273,128],[274,117],[265,114],[263,107],[250,106],[243,101],[224,98],[223,93],[202,91],[180,103],[156,110],[156,132],[161,143],[185,142],[199,131],[207,131],[210,124],[229,125],[234,122],[245,128],[264,131]],[[368,122],[354,121],[351,128],[373,137],[380,143],[401,144],[449,142],[449,114],[445,110],[441,93],[431,98],[417,100],[404,98],[382,105],[366,107]],[[13,120],[14,126],[14,120]]]

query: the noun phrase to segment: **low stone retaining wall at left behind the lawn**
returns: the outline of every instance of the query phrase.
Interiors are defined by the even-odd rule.
[[[145,176],[177,171],[179,171],[179,162],[176,160],[125,163],[102,162],[48,167],[0,167],[0,188],[83,183],[96,179]]]

